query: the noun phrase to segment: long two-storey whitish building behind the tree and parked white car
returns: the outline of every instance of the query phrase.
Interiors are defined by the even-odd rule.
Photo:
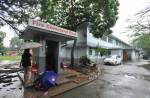
[[[81,25],[78,30],[77,44],[74,51],[75,62],[79,62],[81,56],[88,56],[93,62],[101,62],[102,56],[96,52],[96,46],[99,45],[110,51],[111,55],[119,55],[123,61],[135,61],[139,58],[139,50],[132,48],[129,44],[119,38],[108,35],[102,38],[95,38],[90,33],[88,24]],[[73,41],[68,41],[66,46],[62,47],[61,53],[66,61],[70,60]]]

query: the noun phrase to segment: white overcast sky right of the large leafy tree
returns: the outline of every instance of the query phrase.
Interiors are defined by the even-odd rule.
[[[126,27],[129,25],[128,19],[134,17],[134,15],[144,9],[150,0],[119,0],[119,19],[113,28],[113,35],[117,36],[126,43],[131,40],[126,32]],[[131,32],[130,32],[131,33]],[[129,33],[129,34],[130,34]]]

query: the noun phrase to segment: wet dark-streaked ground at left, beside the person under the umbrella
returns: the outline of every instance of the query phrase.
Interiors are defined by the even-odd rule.
[[[0,98],[23,98],[24,89],[18,78],[16,61],[0,61]]]

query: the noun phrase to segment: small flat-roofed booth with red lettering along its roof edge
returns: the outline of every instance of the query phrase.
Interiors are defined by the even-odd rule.
[[[20,37],[43,45],[43,47],[33,49],[33,58],[39,73],[46,70],[60,73],[61,45],[66,41],[76,39],[77,33],[31,19]]]

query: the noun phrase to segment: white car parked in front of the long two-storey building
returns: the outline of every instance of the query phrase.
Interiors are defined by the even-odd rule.
[[[110,55],[104,59],[104,64],[117,65],[122,63],[122,58],[119,55]]]

